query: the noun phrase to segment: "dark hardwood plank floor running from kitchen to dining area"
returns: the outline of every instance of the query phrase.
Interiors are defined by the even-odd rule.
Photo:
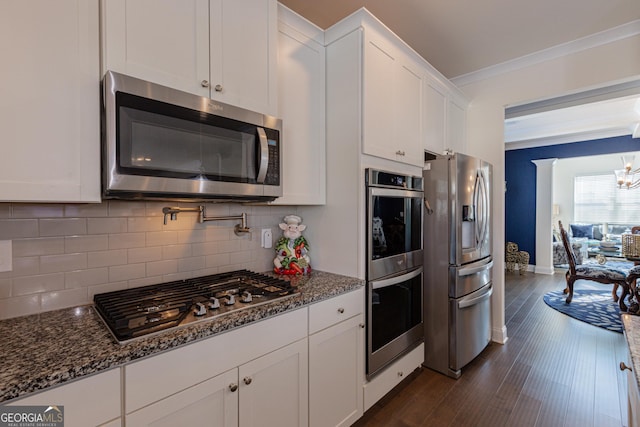
[[[564,274],[505,273],[508,341],[491,343],[458,380],[421,369],[356,426],[623,426],[622,334],[565,316],[542,295]],[[591,285],[578,281],[576,293]]]

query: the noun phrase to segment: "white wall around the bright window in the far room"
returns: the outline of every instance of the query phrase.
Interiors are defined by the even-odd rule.
[[[638,141],[640,145],[640,141]],[[630,153],[640,159],[640,152]],[[611,174],[613,170],[621,169],[620,153],[598,156],[574,157],[558,159],[553,178],[553,203],[560,207],[560,215],[555,221],[562,221],[565,227],[575,222],[573,220],[573,181],[576,176]],[[557,224],[557,222],[556,222]]]

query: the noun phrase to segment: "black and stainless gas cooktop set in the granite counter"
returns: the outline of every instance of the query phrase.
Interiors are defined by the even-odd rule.
[[[238,270],[96,294],[93,302],[113,336],[125,343],[297,293],[286,280]]]

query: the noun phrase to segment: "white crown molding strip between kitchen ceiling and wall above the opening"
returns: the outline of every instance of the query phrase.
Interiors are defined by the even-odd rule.
[[[482,81],[500,74],[530,67],[541,62],[550,61],[572,53],[613,43],[640,34],[640,19],[628,22],[618,27],[610,28],[586,37],[562,43],[548,49],[543,49],[529,55],[524,55],[500,64],[482,68],[471,73],[463,74],[451,79],[454,85],[462,87]]]

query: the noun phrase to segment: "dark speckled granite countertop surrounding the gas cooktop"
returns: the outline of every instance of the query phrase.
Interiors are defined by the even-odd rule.
[[[119,344],[91,305],[0,321],[0,402],[115,368],[238,326],[360,288],[364,281],[322,271],[289,278],[300,294]]]

